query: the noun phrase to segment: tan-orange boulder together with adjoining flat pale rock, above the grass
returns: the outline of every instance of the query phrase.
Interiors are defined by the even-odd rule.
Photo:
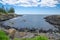
[[[6,34],[8,34],[9,37],[12,38],[32,38],[35,36],[34,33],[31,32],[19,32],[18,30],[15,30],[14,28],[8,29],[8,30],[4,30],[6,32]]]

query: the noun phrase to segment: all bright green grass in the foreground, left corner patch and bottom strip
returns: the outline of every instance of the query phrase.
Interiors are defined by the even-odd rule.
[[[0,40],[10,40],[3,30],[0,30]],[[33,38],[14,38],[14,40],[48,40],[46,36],[35,36]]]

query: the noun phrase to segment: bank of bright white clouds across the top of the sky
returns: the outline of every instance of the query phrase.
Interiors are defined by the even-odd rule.
[[[0,3],[23,7],[56,7],[59,0],[2,0]]]

